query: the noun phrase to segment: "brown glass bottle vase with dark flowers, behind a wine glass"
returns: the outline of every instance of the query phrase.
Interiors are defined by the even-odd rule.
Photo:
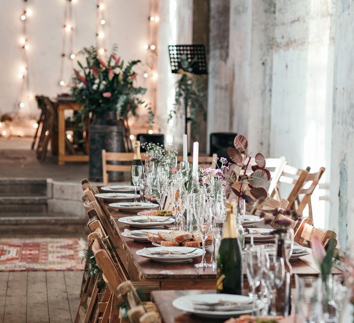
[[[291,276],[292,267],[288,258],[288,251],[286,247],[286,233],[277,235],[275,240],[277,248],[277,256],[284,259],[284,282],[277,290],[275,295],[276,314],[280,316],[288,316],[291,311]]]

